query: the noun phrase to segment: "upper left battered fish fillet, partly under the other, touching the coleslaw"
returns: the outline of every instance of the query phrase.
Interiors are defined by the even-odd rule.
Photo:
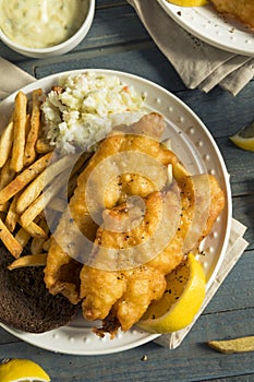
[[[158,141],[164,130],[164,118],[152,112],[131,127],[119,127],[99,144],[78,177],[74,195],[51,240],[45,267],[45,283],[51,294],[61,293],[73,303],[80,301],[80,279],[75,275],[81,271],[82,263],[86,263],[85,256],[90,252],[105,207],[113,207],[123,202],[126,195],[135,193],[146,196],[164,187],[168,164],[177,162],[176,155]],[[131,158],[134,157],[129,166],[135,166],[136,160],[140,165],[144,159],[144,168],[147,167],[146,160],[150,160],[149,178],[158,178],[157,170],[164,167],[157,184],[148,177],[124,171],[128,153]],[[112,174],[109,174],[111,170]],[[84,238],[87,240],[84,241]]]

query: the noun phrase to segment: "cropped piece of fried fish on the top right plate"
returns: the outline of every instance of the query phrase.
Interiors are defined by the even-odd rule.
[[[253,0],[210,0],[219,13],[228,14],[254,28]]]

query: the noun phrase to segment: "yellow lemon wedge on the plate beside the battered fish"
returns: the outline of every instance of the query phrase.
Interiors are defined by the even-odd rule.
[[[205,298],[206,277],[190,253],[183,265],[167,276],[164,297],[149,306],[137,325],[149,333],[172,333],[188,326]]]

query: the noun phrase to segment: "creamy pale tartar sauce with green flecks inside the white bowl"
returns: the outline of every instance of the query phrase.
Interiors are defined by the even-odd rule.
[[[82,25],[87,0],[0,0],[0,28],[28,48],[60,44]]]

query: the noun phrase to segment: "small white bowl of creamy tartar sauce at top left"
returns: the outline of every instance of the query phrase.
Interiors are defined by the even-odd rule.
[[[63,55],[87,35],[95,0],[0,0],[0,39],[21,55]]]

